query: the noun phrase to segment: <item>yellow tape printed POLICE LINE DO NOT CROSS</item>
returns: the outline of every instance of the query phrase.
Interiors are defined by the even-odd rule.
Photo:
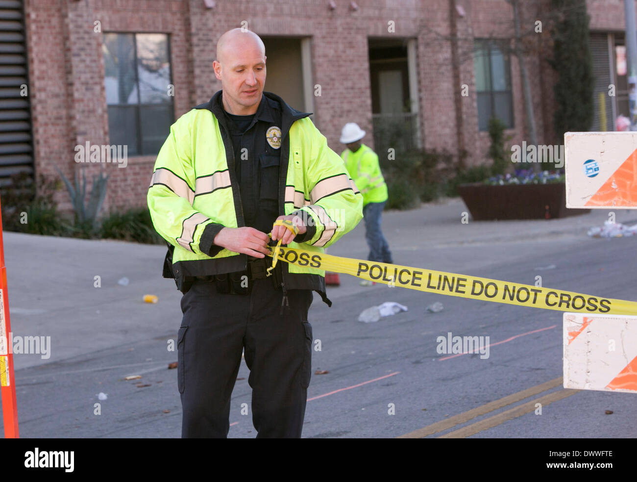
[[[363,259],[341,258],[304,249],[280,246],[274,249],[275,252],[269,254],[273,257],[273,263],[275,259],[280,259],[301,267],[320,268],[427,293],[557,311],[637,315],[637,302]]]

